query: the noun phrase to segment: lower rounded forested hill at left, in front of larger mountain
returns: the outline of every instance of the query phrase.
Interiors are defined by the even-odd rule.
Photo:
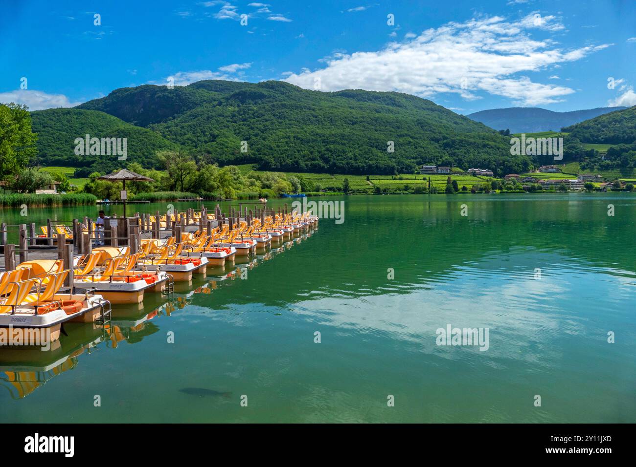
[[[177,145],[156,132],[130,125],[121,119],[98,111],[80,109],[47,109],[31,112],[31,126],[38,133],[38,156],[41,165],[86,167],[93,163],[118,165],[117,156],[75,154],[75,139],[127,138],[127,161],[146,166],[158,165],[155,152],[176,148]]]

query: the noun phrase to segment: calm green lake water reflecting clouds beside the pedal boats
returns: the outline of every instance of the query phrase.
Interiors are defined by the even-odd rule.
[[[245,280],[211,271],[114,307],[109,336],[0,350],[0,423],[636,421],[636,194],[314,200],[344,222],[237,261]],[[487,351],[438,346],[447,325],[488,328]]]

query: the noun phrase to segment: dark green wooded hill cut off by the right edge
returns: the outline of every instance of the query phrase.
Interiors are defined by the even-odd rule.
[[[563,128],[583,143],[636,144],[636,105]]]

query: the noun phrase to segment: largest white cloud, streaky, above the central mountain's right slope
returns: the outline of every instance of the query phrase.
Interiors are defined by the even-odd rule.
[[[559,63],[572,62],[609,46],[563,50],[551,39],[532,39],[530,30],[562,31],[554,16],[530,13],[520,20],[477,17],[428,29],[383,50],[329,57],[326,67],[303,70],[285,81],[312,89],[320,78],[324,91],[362,88],[400,91],[420,97],[456,93],[466,100],[487,92],[510,98],[516,105],[561,102],[574,93],[565,86],[534,83],[529,74]]]

